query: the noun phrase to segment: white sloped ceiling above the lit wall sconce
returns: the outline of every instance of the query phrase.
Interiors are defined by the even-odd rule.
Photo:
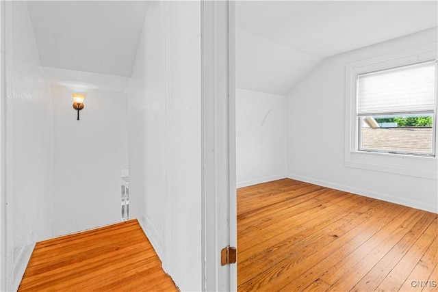
[[[28,1],[41,66],[130,77],[148,1]]]

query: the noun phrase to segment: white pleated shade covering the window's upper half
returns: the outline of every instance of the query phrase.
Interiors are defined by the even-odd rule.
[[[433,111],[435,66],[428,62],[359,75],[358,114]]]

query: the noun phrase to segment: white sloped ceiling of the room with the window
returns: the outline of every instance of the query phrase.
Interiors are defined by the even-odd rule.
[[[237,1],[237,88],[287,94],[322,59],[437,27],[437,1]]]

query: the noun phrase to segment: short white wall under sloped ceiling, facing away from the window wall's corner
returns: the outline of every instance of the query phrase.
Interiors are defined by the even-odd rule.
[[[236,89],[237,187],[286,177],[286,96]]]

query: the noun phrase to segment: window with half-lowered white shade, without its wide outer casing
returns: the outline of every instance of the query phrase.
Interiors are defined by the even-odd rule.
[[[435,156],[437,63],[357,75],[358,150]]]

